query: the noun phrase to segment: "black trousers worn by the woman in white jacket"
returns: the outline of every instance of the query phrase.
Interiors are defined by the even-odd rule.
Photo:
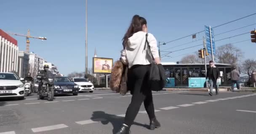
[[[129,127],[133,124],[142,102],[144,102],[149,119],[155,118],[152,92],[148,87],[149,69],[150,65],[134,65],[128,70],[128,90],[131,90],[133,96],[127,108],[124,123]]]

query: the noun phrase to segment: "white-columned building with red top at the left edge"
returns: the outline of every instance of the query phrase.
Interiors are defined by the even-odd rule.
[[[17,72],[18,54],[17,40],[0,29],[0,72]]]

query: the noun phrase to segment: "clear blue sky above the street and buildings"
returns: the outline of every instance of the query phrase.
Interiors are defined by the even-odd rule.
[[[122,37],[133,15],[148,21],[149,32],[157,40],[171,41],[256,13],[255,0],[88,0],[88,67],[96,48],[98,57],[118,59]],[[30,50],[56,64],[67,75],[85,68],[85,0],[4,0],[0,4],[0,28],[7,32],[47,37],[47,41],[30,39]],[[256,15],[214,29],[222,33],[256,23]],[[253,30],[256,25],[216,36],[215,40]],[[197,39],[205,34],[197,34]],[[14,36],[20,50],[25,50],[24,37]],[[250,39],[250,34],[216,42],[216,46]],[[161,50],[192,41],[192,37],[161,46]],[[177,49],[202,44],[195,41]],[[244,58],[254,58],[256,44],[251,41],[234,44]],[[180,54],[197,51],[198,46],[170,54],[163,62],[176,62]],[[163,53],[162,53],[163,54]]]

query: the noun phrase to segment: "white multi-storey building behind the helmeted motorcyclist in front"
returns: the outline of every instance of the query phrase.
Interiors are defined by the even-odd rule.
[[[43,70],[44,59],[33,52],[29,53],[29,72],[32,77],[36,77],[39,70]]]

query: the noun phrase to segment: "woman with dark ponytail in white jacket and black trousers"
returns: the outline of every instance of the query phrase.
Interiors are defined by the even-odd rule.
[[[128,65],[128,90],[131,91],[131,103],[125,113],[125,121],[116,134],[130,134],[130,127],[137,116],[141,103],[144,102],[149,116],[149,129],[160,127],[155,116],[152,91],[149,89],[150,64],[155,59],[160,64],[157,40],[148,32],[145,18],[134,15],[131,24],[123,37],[121,61]],[[146,37],[147,34],[147,37]],[[145,47],[146,39],[149,47]],[[149,54],[151,52],[151,54]],[[152,57],[151,57],[152,55]]]

